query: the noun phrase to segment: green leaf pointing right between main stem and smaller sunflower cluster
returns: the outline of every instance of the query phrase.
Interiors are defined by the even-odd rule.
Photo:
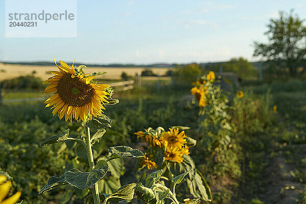
[[[131,159],[131,158],[143,158],[144,155],[138,149],[133,149],[129,146],[115,146],[110,147],[108,150],[111,155],[108,158],[108,161],[117,158]]]

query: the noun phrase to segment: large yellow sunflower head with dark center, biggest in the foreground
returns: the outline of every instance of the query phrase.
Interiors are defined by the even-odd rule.
[[[91,120],[93,116],[101,115],[104,103],[108,103],[106,89],[110,85],[96,84],[92,80],[97,75],[77,72],[73,64],[70,69],[65,62],[60,63],[61,66],[56,64],[59,71],[47,71],[54,76],[43,82],[49,85],[42,92],[54,93],[44,101],[46,107],[53,106],[53,115],[58,113],[60,119],[65,116],[66,121],[72,118],[78,120],[79,117],[85,121],[87,116]]]

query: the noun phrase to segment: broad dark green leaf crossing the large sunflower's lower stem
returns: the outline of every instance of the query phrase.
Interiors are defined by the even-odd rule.
[[[82,172],[78,169],[65,171],[65,179],[71,185],[79,189],[88,189],[102,179],[108,171],[108,163],[99,160],[91,172]]]

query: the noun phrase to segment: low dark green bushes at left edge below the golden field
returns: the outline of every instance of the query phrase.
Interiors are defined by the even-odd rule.
[[[44,89],[42,80],[38,77],[34,77],[33,75],[3,80],[0,82],[0,87],[6,89]]]

